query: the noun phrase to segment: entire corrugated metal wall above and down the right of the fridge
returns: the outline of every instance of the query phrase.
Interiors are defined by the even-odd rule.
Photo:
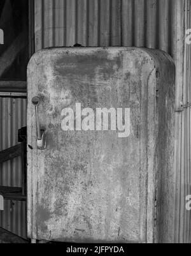
[[[35,47],[136,46],[161,49],[176,64],[174,241],[191,243],[190,0],[35,0]],[[180,111],[179,111],[180,110]]]

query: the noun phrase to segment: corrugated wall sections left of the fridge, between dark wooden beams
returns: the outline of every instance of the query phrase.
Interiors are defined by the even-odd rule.
[[[27,100],[0,97],[0,151],[18,144],[18,129],[26,126]],[[0,164],[0,186],[22,186],[20,157]],[[25,202],[4,201],[0,226],[18,236],[26,237]]]

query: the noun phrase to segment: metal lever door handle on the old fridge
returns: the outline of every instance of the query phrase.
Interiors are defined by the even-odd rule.
[[[39,125],[39,114],[38,114],[38,106],[40,103],[40,99],[38,96],[35,96],[32,98],[32,104],[35,107],[35,117],[36,117],[36,144],[38,149],[45,149],[46,148],[46,136],[45,136],[45,130],[40,129]]]

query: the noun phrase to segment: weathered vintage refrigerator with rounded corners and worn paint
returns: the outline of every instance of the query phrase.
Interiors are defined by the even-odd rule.
[[[27,234],[171,243],[173,60],[129,47],[59,47],[27,71]]]

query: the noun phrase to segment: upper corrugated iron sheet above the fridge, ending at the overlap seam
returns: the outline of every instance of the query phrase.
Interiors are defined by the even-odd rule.
[[[39,50],[80,43],[164,50],[176,62],[179,106],[188,4],[190,0],[36,0],[35,47]]]

